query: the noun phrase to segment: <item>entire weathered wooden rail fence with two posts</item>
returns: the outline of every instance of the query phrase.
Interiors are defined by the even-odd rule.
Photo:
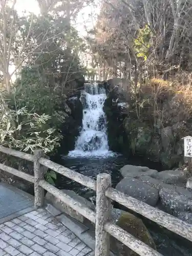
[[[4,164],[0,164],[0,169],[34,183],[35,206],[41,207],[43,205],[44,189],[46,189],[52,195],[59,198],[62,202],[68,204],[74,210],[78,211],[82,216],[95,223],[95,256],[109,256],[110,235],[141,256],[162,256],[162,254],[111,222],[110,214],[112,200],[192,242],[192,225],[185,223],[135,198],[126,196],[120,191],[112,188],[111,176],[109,174],[99,174],[97,176],[97,181],[92,180],[87,176],[74,172],[74,170],[46,159],[41,150],[36,150],[34,155],[30,155],[0,146],[0,152],[34,162],[34,176]],[[45,173],[42,166],[46,166],[49,169],[54,170],[56,173],[59,173],[95,190],[97,195],[96,213],[88,207],[82,206],[79,202],[75,201],[73,198],[66,195],[63,193],[63,191],[59,190],[55,186],[49,184],[44,179]]]

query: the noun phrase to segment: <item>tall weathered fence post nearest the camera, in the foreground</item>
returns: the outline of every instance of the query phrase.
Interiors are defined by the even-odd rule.
[[[110,234],[104,230],[104,224],[111,219],[111,199],[105,191],[111,187],[111,175],[97,176],[96,225],[95,225],[95,256],[109,256]]]

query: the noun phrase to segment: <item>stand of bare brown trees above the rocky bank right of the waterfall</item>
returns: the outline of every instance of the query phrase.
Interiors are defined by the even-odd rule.
[[[139,61],[148,73],[157,70],[163,76],[169,70],[186,69],[190,66],[191,10],[191,0],[104,0],[94,31],[95,49],[113,69],[120,69],[122,61],[123,69],[127,62],[135,68]],[[150,40],[143,42],[139,33],[146,26]],[[136,44],[147,52],[144,62]]]

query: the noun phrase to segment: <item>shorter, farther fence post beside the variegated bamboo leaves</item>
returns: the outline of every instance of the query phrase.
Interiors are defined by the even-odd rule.
[[[36,207],[41,207],[44,203],[44,189],[39,186],[39,181],[44,179],[43,168],[39,163],[39,158],[44,157],[44,152],[42,150],[34,151],[34,205]]]

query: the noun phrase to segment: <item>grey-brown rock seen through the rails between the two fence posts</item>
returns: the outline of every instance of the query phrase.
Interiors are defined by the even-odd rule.
[[[67,194],[68,196],[70,196],[73,199],[75,199],[77,202],[81,203],[83,206],[87,206],[88,208],[90,208],[92,210],[95,210],[95,205],[93,203],[91,203],[90,201],[88,201],[87,199],[85,199],[83,197],[80,197],[74,191],[72,191],[72,190],[65,190],[65,189],[62,189],[62,191],[65,194]],[[68,214],[72,218],[74,218],[74,219],[80,221],[81,223],[83,223],[84,217],[82,215],[80,215],[79,212],[77,212],[76,210],[72,209],[69,205],[63,203],[61,200],[59,200],[58,198],[54,197],[49,192],[46,194],[46,199],[55,208],[57,208],[61,212],[65,212],[66,214]]]

